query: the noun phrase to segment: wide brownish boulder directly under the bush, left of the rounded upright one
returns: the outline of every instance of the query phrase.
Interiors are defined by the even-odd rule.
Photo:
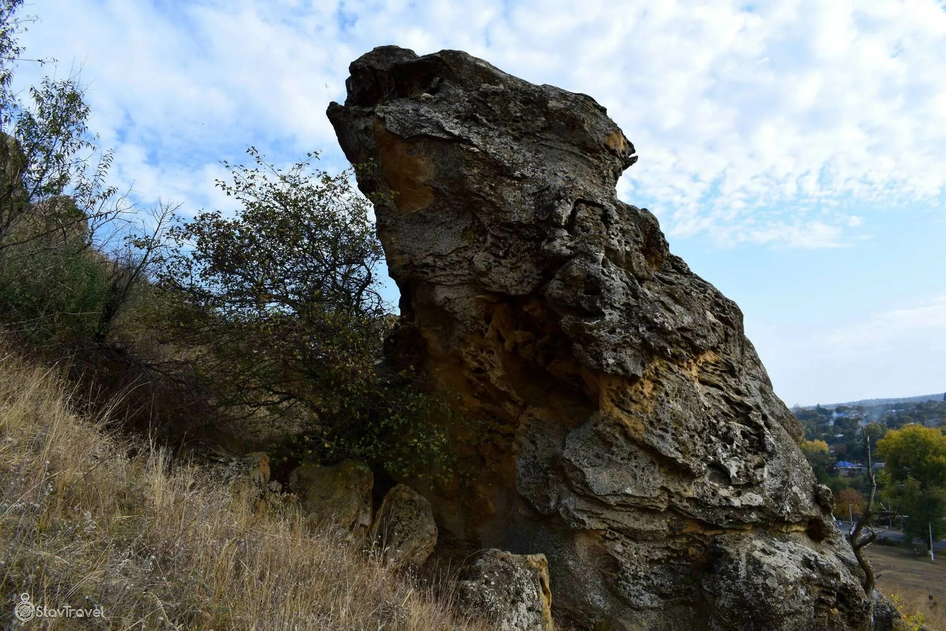
[[[309,516],[336,524],[355,535],[371,525],[371,489],[375,478],[366,464],[343,460],[333,466],[303,464],[289,474],[289,490]]]

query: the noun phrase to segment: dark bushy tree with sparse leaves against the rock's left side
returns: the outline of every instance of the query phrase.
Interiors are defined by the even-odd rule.
[[[248,149],[224,165],[234,217],[203,212],[172,229],[181,250],[161,283],[167,341],[230,411],[263,415],[314,460],[357,457],[401,471],[437,460],[444,406],[388,370],[394,322],[378,294],[382,251],[350,173],[288,170]]]

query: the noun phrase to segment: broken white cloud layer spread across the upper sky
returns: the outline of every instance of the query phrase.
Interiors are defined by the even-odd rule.
[[[84,60],[116,174],[146,197],[210,202],[203,176],[249,143],[281,160],[326,149],[341,165],[324,108],[343,98],[349,61],[392,43],[465,49],[595,96],[641,156],[622,195],[671,235],[834,247],[862,216],[941,205],[946,189],[934,0],[160,6],[49,0],[26,41]]]

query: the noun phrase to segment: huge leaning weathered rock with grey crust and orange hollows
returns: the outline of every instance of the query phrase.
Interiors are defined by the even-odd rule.
[[[613,629],[867,629],[831,493],[742,313],[619,201],[635,149],[590,96],[387,46],[328,116],[401,290],[394,344],[447,392],[444,538],[544,553]]]

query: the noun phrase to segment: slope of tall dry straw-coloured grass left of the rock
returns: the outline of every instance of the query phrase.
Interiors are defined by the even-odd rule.
[[[294,504],[262,516],[226,482],[70,410],[52,373],[0,359],[0,625],[22,592],[105,619],[23,628],[484,629]]]

